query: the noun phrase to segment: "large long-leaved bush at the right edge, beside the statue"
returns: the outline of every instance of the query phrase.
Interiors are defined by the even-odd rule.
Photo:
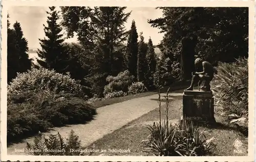
[[[239,119],[232,121],[248,131],[248,60],[238,59],[234,63],[219,63],[218,74],[211,86],[217,100],[217,107],[236,114]]]

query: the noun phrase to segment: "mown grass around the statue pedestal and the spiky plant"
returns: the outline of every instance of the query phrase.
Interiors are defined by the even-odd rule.
[[[157,103],[156,103],[157,104]],[[169,120],[177,119],[182,115],[182,106],[181,100],[177,97],[177,100],[173,100],[170,103],[170,113],[168,115]],[[175,106],[174,106],[175,105]],[[164,105],[163,105],[164,107]],[[162,109],[161,115],[164,117],[165,110]],[[89,148],[94,149],[104,149],[106,152],[103,155],[112,155],[112,156],[147,156],[152,155],[148,152],[145,152],[143,145],[141,143],[150,131],[146,128],[146,124],[153,124],[154,121],[158,121],[159,118],[159,109],[155,109],[140,118],[130,122],[129,124],[123,126],[122,128],[106,134],[102,139],[97,140],[89,146]],[[213,150],[213,156],[246,156],[248,154],[248,139],[243,136],[242,133],[236,130],[231,124],[222,118],[219,114],[215,115],[217,125],[216,126],[202,126],[201,129],[205,130],[205,135],[207,139],[211,137],[216,138],[215,144],[217,144],[217,149]],[[233,142],[239,139],[243,145],[239,148],[242,150],[242,153],[234,153]],[[109,149],[130,149],[131,152],[109,152]],[[100,155],[101,153],[92,153],[91,155]]]

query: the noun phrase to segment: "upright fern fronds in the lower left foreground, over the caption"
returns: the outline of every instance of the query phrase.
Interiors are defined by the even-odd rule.
[[[69,133],[68,139],[66,141],[59,134],[50,134],[48,137],[45,134],[39,133],[37,137],[34,138],[34,144],[27,142],[26,149],[36,150],[29,152],[32,155],[82,155],[84,149],[81,146],[81,141],[79,137],[75,134],[72,129]],[[71,150],[76,151],[71,151]]]

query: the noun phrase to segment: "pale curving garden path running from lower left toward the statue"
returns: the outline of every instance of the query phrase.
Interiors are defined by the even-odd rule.
[[[183,90],[170,92],[170,96],[181,96]],[[161,94],[164,96],[164,94]],[[164,98],[164,97],[162,97]],[[79,136],[83,146],[90,145],[94,141],[102,138],[105,134],[109,134],[112,131],[121,128],[127,123],[140,116],[156,109],[158,94],[151,96],[135,98],[97,109],[97,115],[95,119],[87,124],[67,125],[63,127],[54,127],[53,130],[46,133],[56,134],[57,131],[63,138],[67,138],[71,129],[75,131],[75,134]],[[14,149],[26,148],[26,141],[33,143],[33,138],[28,138],[21,143],[8,146],[7,152],[9,155],[26,155],[24,152],[15,152]]]

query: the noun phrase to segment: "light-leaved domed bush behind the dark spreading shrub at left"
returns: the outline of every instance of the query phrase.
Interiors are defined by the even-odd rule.
[[[25,73],[19,73],[8,86],[9,93],[18,94],[27,91],[40,92],[54,90],[74,94],[77,97],[86,98],[85,87],[81,86],[70,75],[63,75],[44,68],[32,69]],[[84,91],[83,91],[84,90]]]

